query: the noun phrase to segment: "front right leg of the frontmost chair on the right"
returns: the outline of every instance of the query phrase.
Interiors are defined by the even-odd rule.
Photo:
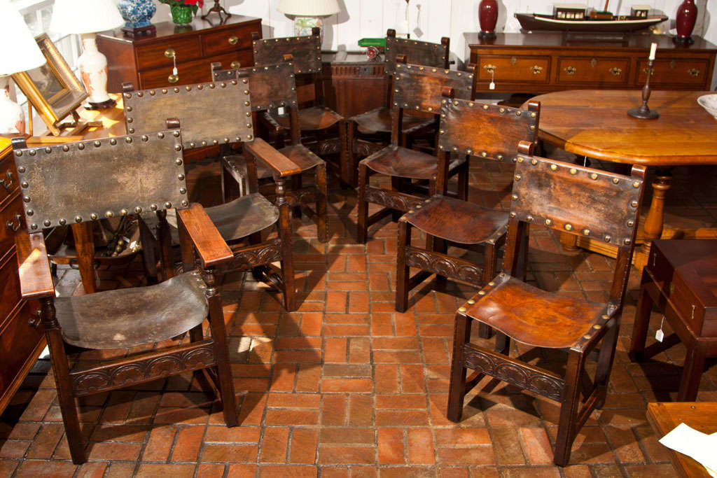
[[[555,454],[553,462],[564,467],[570,461],[570,451],[575,438],[576,419],[580,405],[580,381],[583,374],[585,355],[576,350],[570,350],[568,356],[567,372],[565,376],[565,390],[563,403],[560,407],[560,421],[558,436],[555,441]]]

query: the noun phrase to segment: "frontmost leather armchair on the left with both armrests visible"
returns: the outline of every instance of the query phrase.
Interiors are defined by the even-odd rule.
[[[237,425],[222,299],[214,282],[232,251],[199,204],[189,204],[179,123],[173,129],[102,140],[27,148],[13,140],[29,232],[16,234],[22,297],[38,299],[72,462],[85,462],[75,398],[137,383],[205,371],[219,389],[224,421]],[[199,269],[171,276],[166,210],[176,208],[182,241],[196,251]],[[100,218],[158,216],[164,281],[148,287],[55,298],[42,229]],[[209,320],[211,336],[202,322]],[[189,340],[166,343],[189,332]],[[68,349],[130,349],[130,354],[90,368],[72,369]],[[143,348],[147,350],[147,348]],[[199,383],[212,391],[209,382]]]

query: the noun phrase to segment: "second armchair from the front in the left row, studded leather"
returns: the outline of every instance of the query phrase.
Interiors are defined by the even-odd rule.
[[[222,271],[252,270],[255,277],[282,290],[286,310],[295,310],[292,232],[285,181],[288,176],[300,173],[301,168],[264,140],[254,138],[247,75],[157,90],[134,91],[131,84],[123,86],[125,120],[130,132],[156,129],[162,115],[172,113],[186,125],[182,136],[184,148],[221,145],[228,154],[229,143],[244,142],[244,158],[251,165],[250,173],[253,172],[249,178],[250,193],[206,208],[206,214],[234,253],[234,259],[223,264]],[[274,175],[275,204],[257,192],[257,160],[265,163]],[[262,239],[262,231],[275,225],[278,236]],[[184,249],[186,264],[191,263],[190,256],[191,251]],[[281,262],[280,270],[271,265],[277,261]]]

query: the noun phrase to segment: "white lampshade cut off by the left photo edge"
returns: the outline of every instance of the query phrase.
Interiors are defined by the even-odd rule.
[[[0,75],[32,70],[47,62],[24,19],[9,0],[0,0],[0,44],[4,45]]]

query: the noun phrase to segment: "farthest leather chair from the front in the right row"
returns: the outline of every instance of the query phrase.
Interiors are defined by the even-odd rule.
[[[412,64],[448,70],[449,57],[450,39],[447,37],[443,37],[440,44],[437,44],[397,38],[394,29],[389,29],[386,32],[386,55],[384,58],[386,105],[344,121],[346,148],[343,150],[342,161],[347,165],[349,177],[352,178],[352,186],[356,186],[358,181],[356,176],[358,158],[369,156],[383,148],[386,145],[387,137],[391,134],[392,115],[394,114],[391,98],[394,96],[394,74],[397,60],[404,58]],[[412,135],[426,132],[433,124],[432,120],[421,116],[403,115],[401,126],[404,138],[401,138],[400,144],[410,148],[410,144],[405,142],[410,140]]]

